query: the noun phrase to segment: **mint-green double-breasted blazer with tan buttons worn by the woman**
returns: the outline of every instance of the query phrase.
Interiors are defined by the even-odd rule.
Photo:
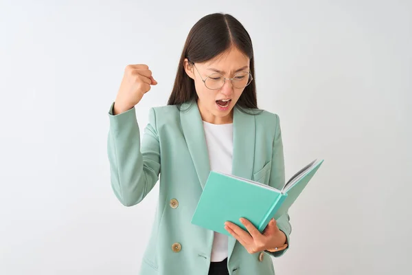
[[[108,111],[107,152],[115,196],[124,206],[135,206],[160,178],[155,222],[139,274],[207,275],[214,232],[190,223],[210,171],[196,102],[180,108],[151,108],[141,137],[135,107],[113,115],[113,105]],[[233,109],[232,174],[282,188],[285,171],[279,117],[264,110],[244,111],[255,112]],[[289,244],[279,252],[249,254],[229,236],[229,273],[275,274],[271,257],[282,256],[290,248],[288,213],[277,219],[277,226]]]

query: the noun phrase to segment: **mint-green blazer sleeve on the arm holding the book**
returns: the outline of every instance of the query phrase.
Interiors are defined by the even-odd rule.
[[[285,184],[285,165],[284,165],[284,149],[282,142],[282,131],[279,124],[279,115],[275,115],[275,138],[273,140],[273,155],[272,155],[272,167],[271,167],[271,177],[269,179],[269,185],[277,189],[282,189]],[[282,256],[290,248],[290,232],[292,231],[292,226],[290,225],[290,217],[288,212],[283,214],[276,221],[279,230],[284,232],[286,235],[286,241],[288,247],[285,250],[279,252],[268,252],[274,257]]]

